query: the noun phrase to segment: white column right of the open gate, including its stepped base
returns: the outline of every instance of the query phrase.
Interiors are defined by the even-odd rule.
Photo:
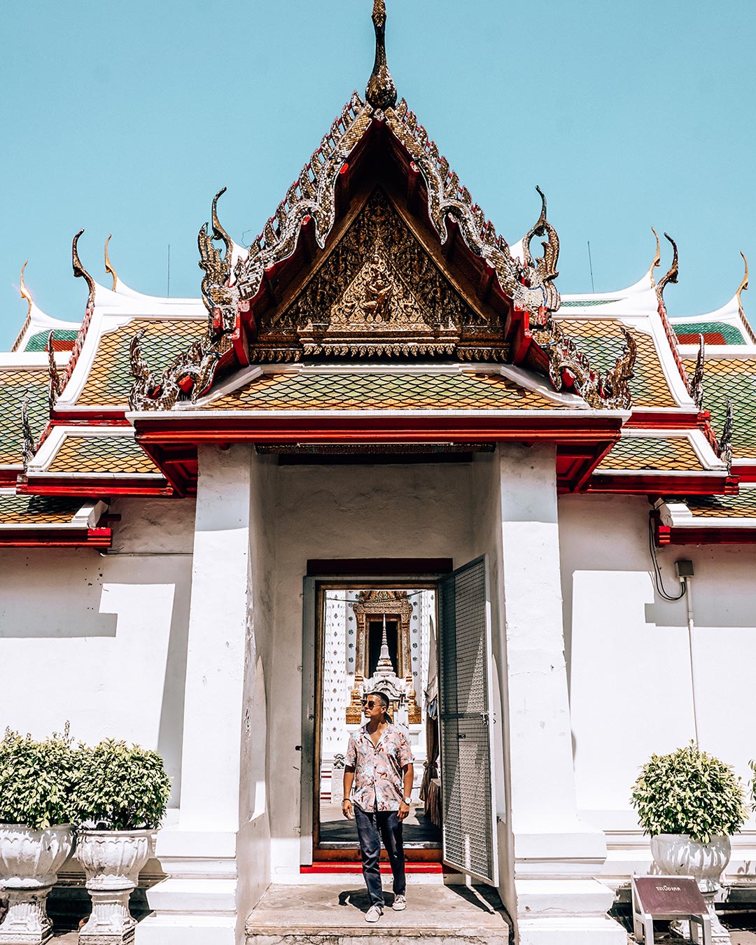
[[[577,818],[562,629],[556,449],[499,447],[508,836],[521,945],[624,942],[593,877],[606,840]],[[513,854],[513,855],[512,855]],[[511,871],[513,870],[513,877]]]

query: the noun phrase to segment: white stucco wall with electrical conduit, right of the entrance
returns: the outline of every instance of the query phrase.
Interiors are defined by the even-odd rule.
[[[637,827],[632,782],[652,752],[694,738],[685,601],[654,590],[644,497],[564,496],[559,535],[578,807],[613,832]],[[748,779],[756,666],[756,549],[670,546],[658,552],[667,593],[674,562],[694,562],[700,746]],[[753,827],[750,823],[749,828]]]

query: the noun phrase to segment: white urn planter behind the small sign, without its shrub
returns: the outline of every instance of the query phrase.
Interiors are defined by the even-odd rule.
[[[709,907],[713,941],[719,945],[730,942],[730,933],[714,909],[714,894],[730,863],[730,837],[713,836],[711,843],[704,844],[692,840],[685,833],[659,833],[651,837],[651,855],[662,876],[696,877],[698,888]],[[687,930],[682,931],[688,934]]]

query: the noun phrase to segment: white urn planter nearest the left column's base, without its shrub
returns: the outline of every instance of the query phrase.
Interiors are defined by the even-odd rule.
[[[133,940],[136,922],[129,896],[155,850],[155,835],[154,830],[79,832],[76,858],[92,898],[92,915],[78,934],[80,945]]]

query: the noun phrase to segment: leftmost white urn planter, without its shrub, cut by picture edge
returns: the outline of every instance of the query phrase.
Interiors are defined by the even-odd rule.
[[[46,830],[0,824],[0,886],[8,893],[8,912],[0,922],[0,945],[42,945],[52,936],[47,894],[73,844],[74,833],[68,824]]]

